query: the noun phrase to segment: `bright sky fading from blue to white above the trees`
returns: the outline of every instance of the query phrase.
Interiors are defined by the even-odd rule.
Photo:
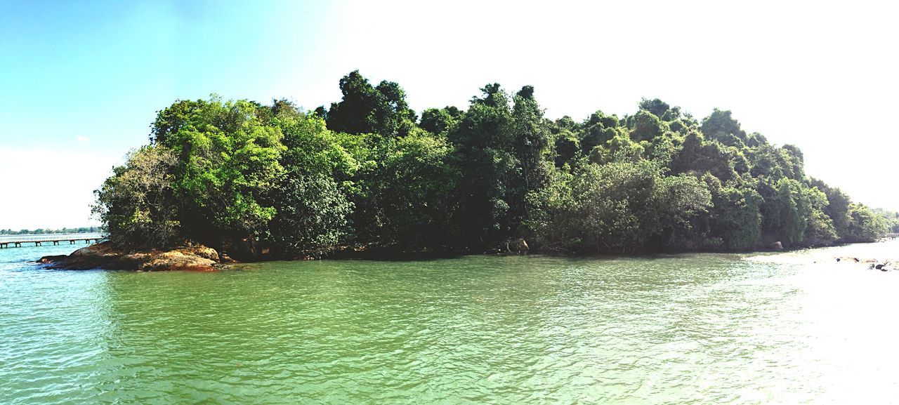
[[[178,99],[307,109],[360,69],[425,108],[530,84],[547,117],[732,110],[806,173],[899,210],[890,2],[0,0],[0,229],[95,225],[93,189]]]

